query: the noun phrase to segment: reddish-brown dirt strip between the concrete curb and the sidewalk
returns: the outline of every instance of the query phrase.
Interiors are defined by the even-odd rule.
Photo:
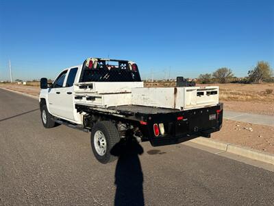
[[[274,154],[274,126],[223,119],[223,128],[211,138]]]

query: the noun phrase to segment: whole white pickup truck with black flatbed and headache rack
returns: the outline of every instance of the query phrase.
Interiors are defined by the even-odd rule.
[[[135,62],[88,58],[52,84],[40,80],[42,124],[91,131],[101,163],[115,159],[110,150],[125,138],[162,146],[210,137],[223,122],[219,87],[187,86],[177,78],[177,87],[145,88]]]

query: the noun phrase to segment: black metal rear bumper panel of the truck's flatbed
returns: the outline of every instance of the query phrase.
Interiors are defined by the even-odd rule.
[[[216,119],[209,119],[210,115],[216,115]],[[171,121],[171,115],[175,119]],[[184,119],[177,120],[183,116]],[[182,111],[166,115],[166,118],[153,118],[152,124],[164,123],[166,133],[155,137],[153,126],[149,128],[149,141],[152,146],[164,146],[169,144],[179,144],[183,141],[195,139],[196,137],[210,137],[211,133],[219,131],[223,125],[223,104],[207,108],[198,108],[191,111]],[[152,120],[153,120],[152,119]],[[159,119],[159,121],[157,121]],[[166,122],[164,121],[166,119]]]

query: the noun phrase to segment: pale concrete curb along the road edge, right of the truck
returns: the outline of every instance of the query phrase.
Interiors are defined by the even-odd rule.
[[[219,150],[223,150],[224,152],[230,152],[235,155],[248,157],[250,159],[255,159],[258,161],[262,161],[264,163],[270,163],[274,165],[274,155],[267,152],[260,152],[259,150],[253,150],[251,148],[236,146],[235,144],[229,144],[212,139],[206,139],[205,137],[198,137],[190,141],[196,144],[216,148]]]

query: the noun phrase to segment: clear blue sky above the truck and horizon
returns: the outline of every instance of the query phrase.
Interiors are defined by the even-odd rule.
[[[88,57],[137,62],[143,79],[274,66],[274,1],[0,0],[0,80],[54,79]]]

